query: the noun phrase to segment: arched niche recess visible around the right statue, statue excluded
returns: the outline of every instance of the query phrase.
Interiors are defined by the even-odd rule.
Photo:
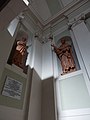
[[[74,49],[74,45],[73,45],[73,42],[72,42],[72,39],[70,36],[63,36],[61,37],[57,42],[56,42],[56,46],[57,48],[59,48],[61,46],[61,40],[64,39],[65,42],[71,46],[71,50],[72,50],[72,56],[73,56],[73,59],[74,59],[74,62],[75,62],[75,67],[76,67],[76,70],[80,70],[80,65],[79,65],[79,62],[78,62],[78,58],[77,58],[77,55],[76,55],[76,52],[75,52],[75,49]],[[60,59],[57,57],[57,61],[58,61],[58,73],[61,74],[63,73],[63,70],[62,70],[62,65],[61,65],[61,61]]]

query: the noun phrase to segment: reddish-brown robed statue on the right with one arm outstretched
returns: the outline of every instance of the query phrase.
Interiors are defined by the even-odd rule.
[[[75,71],[76,66],[72,55],[71,45],[66,43],[65,39],[62,38],[59,48],[57,48],[54,44],[52,44],[51,46],[54,47],[54,51],[61,61],[63,71],[61,75]]]

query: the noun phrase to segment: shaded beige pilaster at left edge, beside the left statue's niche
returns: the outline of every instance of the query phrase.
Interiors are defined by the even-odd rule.
[[[5,29],[4,31],[0,32],[0,78],[6,62],[8,60],[10,50],[12,48],[14,38],[11,37],[9,32]]]

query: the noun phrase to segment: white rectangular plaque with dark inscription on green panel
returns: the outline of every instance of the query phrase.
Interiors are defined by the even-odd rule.
[[[23,84],[21,82],[7,76],[3,86],[2,95],[20,100],[22,87]]]

